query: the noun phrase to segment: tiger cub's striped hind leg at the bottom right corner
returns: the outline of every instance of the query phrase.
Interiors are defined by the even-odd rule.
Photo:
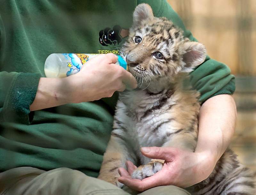
[[[186,190],[197,195],[256,194],[256,173],[244,167],[236,154],[227,149],[218,160],[214,170],[202,182]]]

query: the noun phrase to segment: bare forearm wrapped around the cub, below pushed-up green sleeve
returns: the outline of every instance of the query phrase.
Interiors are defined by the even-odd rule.
[[[204,153],[216,163],[227,149],[235,131],[236,104],[231,95],[217,95],[200,108],[195,152]]]

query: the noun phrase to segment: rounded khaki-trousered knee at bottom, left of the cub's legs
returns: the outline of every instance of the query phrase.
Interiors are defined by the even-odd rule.
[[[127,194],[113,184],[97,178],[86,176],[84,173],[68,168],[47,171],[38,178],[34,194]],[[49,194],[49,193],[48,193]]]

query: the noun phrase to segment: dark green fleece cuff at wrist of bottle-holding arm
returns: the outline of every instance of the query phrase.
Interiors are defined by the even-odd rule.
[[[13,79],[4,101],[4,121],[31,124],[34,112],[30,112],[29,106],[36,97],[40,77],[40,74],[19,73]]]

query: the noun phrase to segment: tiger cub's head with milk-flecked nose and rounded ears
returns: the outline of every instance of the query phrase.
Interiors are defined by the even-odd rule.
[[[139,4],[122,55],[139,88],[154,92],[201,64],[206,50],[203,44],[184,38],[168,19],[154,17],[148,4]]]

